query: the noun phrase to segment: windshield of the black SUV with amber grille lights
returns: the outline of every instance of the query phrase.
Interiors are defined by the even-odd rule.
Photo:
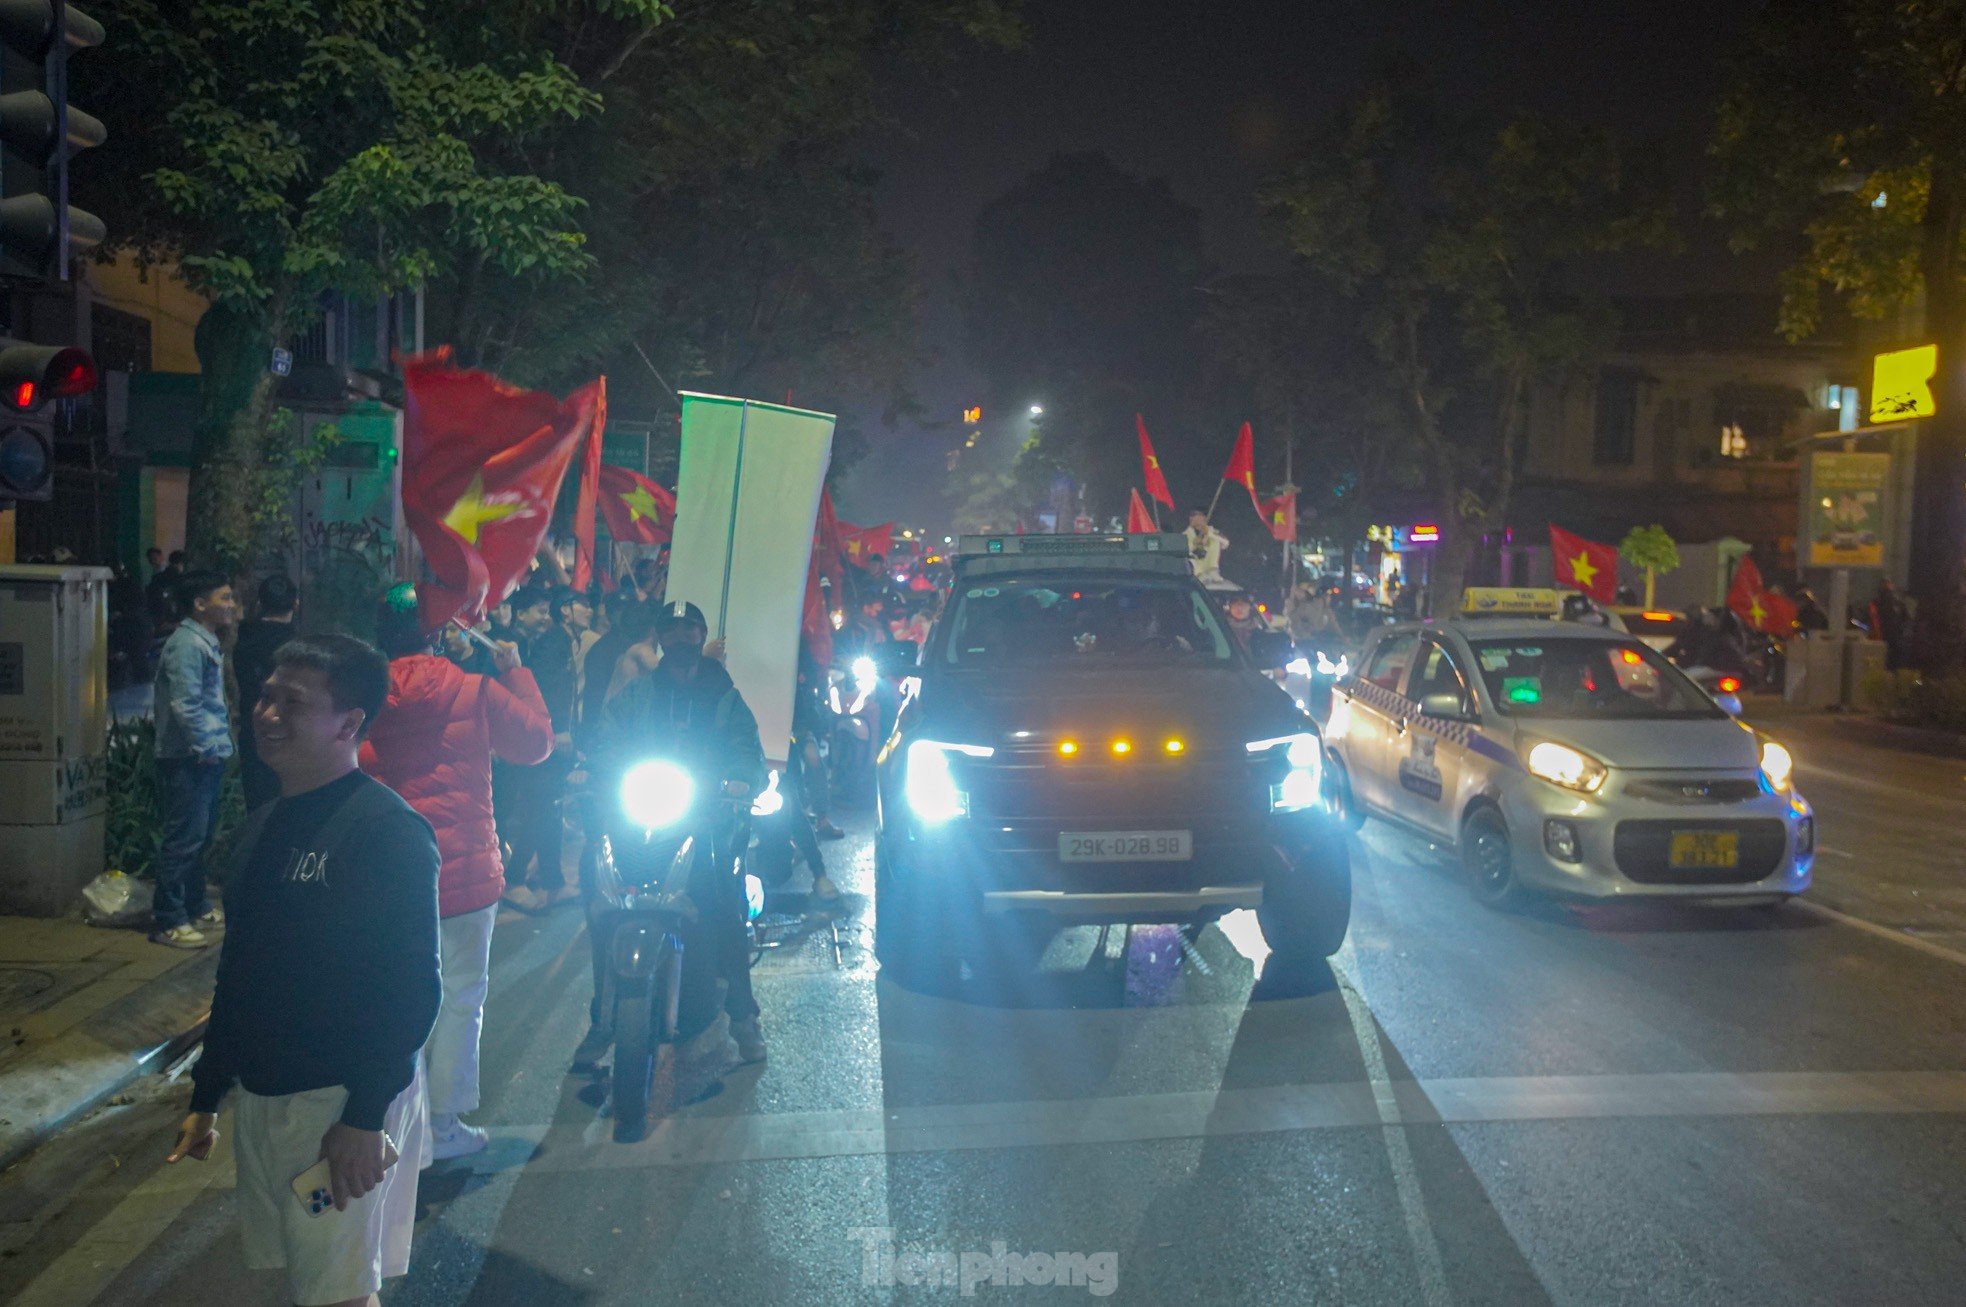
[[[959,586],[942,658],[955,666],[1229,662],[1229,633],[1193,586],[1140,576],[985,578]]]

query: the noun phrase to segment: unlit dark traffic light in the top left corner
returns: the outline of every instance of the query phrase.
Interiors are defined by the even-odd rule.
[[[69,104],[69,55],[100,43],[65,0],[0,0],[0,273],[63,281],[102,242],[102,220],[69,206],[69,159],[106,136]]]

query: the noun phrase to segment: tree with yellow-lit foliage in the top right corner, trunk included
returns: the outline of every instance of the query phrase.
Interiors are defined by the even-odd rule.
[[[1765,6],[1730,69],[1710,153],[1712,212],[1736,246],[1795,246],[1783,330],[1824,293],[1864,318],[1921,313],[1938,346],[1919,432],[1911,590],[1917,656],[1966,660],[1966,2]]]

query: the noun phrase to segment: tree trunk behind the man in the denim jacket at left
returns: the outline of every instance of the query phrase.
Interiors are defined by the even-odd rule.
[[[250,564],[254,487],[273,413],[273,336],[226,305],[199,318],[199,428],[191,454],[185,550],[193,566],[234,574]]]

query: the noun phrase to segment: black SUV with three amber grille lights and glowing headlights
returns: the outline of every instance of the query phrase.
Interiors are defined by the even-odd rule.
[[[877,951],[955,975],[1060,924],[1211,922],[1327,957],[1351,922],[1317,725],[1180,535],[965,539],[879,761]]]

